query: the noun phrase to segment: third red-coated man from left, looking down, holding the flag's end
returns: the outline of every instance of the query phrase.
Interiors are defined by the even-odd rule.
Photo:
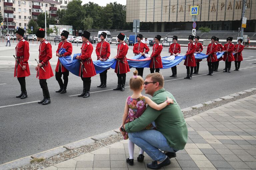
[[[58,49],[56,51],[56,56],[57,57],[66,57],[72,54],[72,50],[73,50],[73,46],[71,44],[71,42],[67,41],[69,32],[67,31],[62,31],[61,33],[61,41],[58,45]],[[64,54],[59,54],[59,50],[61,48],[65,48],[67,52],[65,52]],[[61,76],[63,74],[63,80],[64,80],[64,84],[62,82]],[[69,75],[69,71],[61,64],[60,60],[58,59],[56,68],[55,68],[55,78],[58,81],[59,85],[60,85],[60,89],[58,91],[55,91],[57,93],[67,93],[66,89],[67,89],[67,85],[68,85],[68,75]]]

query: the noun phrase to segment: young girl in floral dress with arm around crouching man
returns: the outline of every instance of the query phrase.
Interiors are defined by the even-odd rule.
[[[161,110],[168,106],[169,104],[173,104],[173,100],[167,97],[167,100],[160,105],[154,103],[149,97],[143,96],[141,91],[143,90],[144,80],[141,76],[137,76],[138,71],[135,70],[133,72],[133,77],[130,79],[130,89],[133,91],[133,94],[126,99],[126,104],[124,108],[124,115],[121,127],[128,122],[132,122],[133,120],[140,117],[146,109],[146,104],[148,104],[151,108],[155,110]],[[145,129],[154,129],[153,125],[148,125]],[[128,139],[128,133],[125,132],[124,139]],[[129,165],[133,165],[133,152],[134,152],[134,143],[132,141],[128,141],[128,150],[129,150],[129,158],[126,159],[126,162]],[[140,153],[137,158],[139,162],[144,160],[144,151],[140,148]]]

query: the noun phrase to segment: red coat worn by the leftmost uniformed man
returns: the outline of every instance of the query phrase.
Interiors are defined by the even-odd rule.
[[[19,40],[15,47],[16,57],[20,63],[15,63],[14,68],[14,77],[27,77],[30,75],[29,66],[28,66],[28,59],[29,59],[29,44],[23,38]],[[26,69],[22,70],[22,66],[25,65]]]

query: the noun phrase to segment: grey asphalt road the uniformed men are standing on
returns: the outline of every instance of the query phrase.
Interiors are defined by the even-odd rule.
[[[53,54],[57,48],[54,44],[52,43]],[[51,104],[42,106],[36,102],[43,96],[34,69],[34,58],[38,58],[39,44],[30,42],[31,76],[26,77],[28,98],[23,100],[15,98],[20,94],[20,85],[17,78],[13,77],[15,62],[12,54],[15,53],[15,44],[11,43],[11,47],[4,45],[5,43],[0,42],[0,164],[119,127],[125,100],[132,92],[129,87],[125,88],[124,92],[112,90],[117,86],[113,69],[108,71],[105,89],[96,87],[100,83],[99,75],[92,77],[91,96],[86,99],[73,96],[82,92],[80,77],[70,74],[65,94],[55,93],[55,90],[59,89],[55,77],[48,79]],[[73,45],[73,53],[79,53],[81,44],[78,44],[78,47]],[[116,55],[116,48],[115,44],[111,44],[111,56]],[[187,48],[182,48],[181,53],[184,54],[186,50]],[[205,51],[206,48],[203,52]],[[177,66],[177,78],[169,77],[171,69],[161,69],[165,79],[164,87],[174,95],[181,108],[250,89],[256,86],[256,64],[253,64],[256,63],[255,52],[256,50],[244,50],[240,71],[233,71],[232,62],[231,73],[222,72],[225,63],[221,61],[219,72],[215,72],[213,76],[205,75],[208,73],[205,59],[200,63],[199,74],[193,76],[192,80],[183,79],[186,76],[183,62]],[[164,48],[162,56],[167,55],[168,48]],[[127,56],[133,56],[132,46],[129,46]],[[93,59],[96,59],[95,52]],[[54,71],[57,57],[54,55],[50,62]],[[126,86],[129,86],[129,77],[132,76],[133,70],[132,68],[127,74]],[[144,75],[149,73],[149,68],[145,68]],[[26,102],[34,103],[24,104]],[[15,105],[20,103],[23,104]]]

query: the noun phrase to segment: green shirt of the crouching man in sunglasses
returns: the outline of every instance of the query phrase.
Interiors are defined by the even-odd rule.
[[[160,111],[148,106],[139,118],[125,124],[125,131],[128,133],[140,131],[155,121],[157,130],[165,136],[169,146],[181,150],[187,143],[188,129],[180,106],[173,95],[165,91],[164,88],[156,91],[151,100],[156,104],[161,104],[167,96],[174,100],[174,104],[170,104]]]

